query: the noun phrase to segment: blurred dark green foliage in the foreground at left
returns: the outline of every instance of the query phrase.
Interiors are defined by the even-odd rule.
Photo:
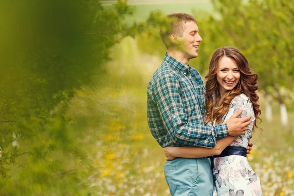
[[[85,195],[87,133],[67,113],[128,34],[125,2],[0,2],[0,195]],[[90,83],[91,82],[91,83]]]

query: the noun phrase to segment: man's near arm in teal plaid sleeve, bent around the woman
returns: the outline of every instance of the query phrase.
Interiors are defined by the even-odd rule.
[[[183,111],[179,82],[172,74],[164,74],[156,81],[154,94],[160,115],[174,143],[214,147],[217,139],[229,135],[227,124],[204,126],[188,123]]]

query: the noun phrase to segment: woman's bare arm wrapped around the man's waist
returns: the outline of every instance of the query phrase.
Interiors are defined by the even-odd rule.
[[[221,138],[213,148],[207,147],[165,147],[164,154],[167,161],[172,161],[176,157],[182,158],[200,158],[221,154],[222,150],[227,147],[236,137],[228,136]]]

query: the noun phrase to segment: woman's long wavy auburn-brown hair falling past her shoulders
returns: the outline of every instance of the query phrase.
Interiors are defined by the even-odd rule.
[[[240,70],[240,79],[238,84],[231,91],[226,92],[222,97],[220,95],[220,85],[217,81],[217,69],[218,64],[223,56],[227,56],[236,61],[239,70]],[[245,58],[245,56],[234,47],[222,47],[217,49],[211,57],[209,64],[208,74],[205,76],[206,79],[206,123],[213,123],[214,121],[217,124],[221,123],[222,117],[228,111],[230,103],[233,98],[244,93],[248,98],[250,98],[254,115],[256,120],[260,120],[259,115],[261,114],[260,105],[258,101],[256,85],[258,76],[254,73]],[[254,122],[254,126],[259,128]],[[254,127],[253,127],[254,128]],[[262,128],[259,128],[262,130]]]

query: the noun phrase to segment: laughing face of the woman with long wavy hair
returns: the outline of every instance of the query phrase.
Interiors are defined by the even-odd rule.
[[[217,68],[217,80],[221,96],[234,89],[240,79],[240,71],[236,61],[227,56],[221,57]]]

